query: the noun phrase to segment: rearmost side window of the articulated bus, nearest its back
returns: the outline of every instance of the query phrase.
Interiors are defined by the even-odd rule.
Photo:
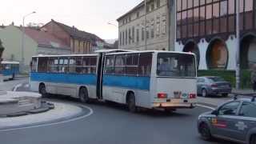
[[[151,73],[152,54],[142,53],[139,57],[138,75],[149,77]]]

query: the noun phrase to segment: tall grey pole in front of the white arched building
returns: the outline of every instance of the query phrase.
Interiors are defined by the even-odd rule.
[[[236,47],[236,89],[240,88],[240,2],[236,0],[236,35],[237,35],[237,47]]]

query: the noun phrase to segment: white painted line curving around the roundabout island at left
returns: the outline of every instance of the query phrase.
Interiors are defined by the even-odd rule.
[[[82,106],[82,105],[79,105],[79,106]],[[72,119],[69,119],[69,120],[66,120],[66,121],[62,121],[62,122],[52,122],[52,123],[46,123],[46,124],[41,124],[41,125],[39,124],[37,126],[25,126],[25,127],[13,128],[13,129],[6,129],[6,130],[0,130],[0,132],[7,132],[7,131],[14,131],[14,130],[25,130],[25,129],[44,127],[44,126],[55,126],[55,125],[59,125],[59,124],[67,123],[67,122],[78,121],[82,118],[89,117],[91,114],[94,114],[94,110],[92,110],[89,106],[82,106],[82,107],[90,110],[90,112],[86,115],[81,116],[81,117],[72,118]]]

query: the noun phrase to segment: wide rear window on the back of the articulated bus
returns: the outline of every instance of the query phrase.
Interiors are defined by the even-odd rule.
[[[157,74],[165,77],[196,77],[194,55],[159,53]]]

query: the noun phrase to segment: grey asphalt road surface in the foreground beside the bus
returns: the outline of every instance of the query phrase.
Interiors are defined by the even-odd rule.
[[[22,90],[22,89],[19,89]],[[49,100],[49,99],[48,99]],[[54,98],[50,101],[80,102],[70,98]],[[42,126],[24,130],[0,131],[1,144],[207,144],[229,142],[203,141],[197,131],[199,114],[209,111],[197,107],[193,110],[177,110],[174,114],[161,111],[145,111],[131,114],[125,106],[94,102],[89,106],[94,113],[74,122],[54,126]]]

